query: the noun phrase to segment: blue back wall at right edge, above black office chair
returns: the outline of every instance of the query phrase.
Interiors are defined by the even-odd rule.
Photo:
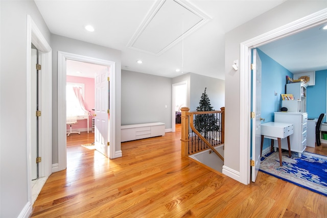
[[[326,113],[327,69],[316,71],[315,75],[315,85],[307,87],[307,112],[309,118],[318,118],[321,113]]]

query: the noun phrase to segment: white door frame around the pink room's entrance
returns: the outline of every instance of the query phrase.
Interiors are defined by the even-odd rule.
[[[113,146],[109,147],[109,158],[118,157],[115,151],[115,88],[116,88],[116,65],[113,61],[92,58],[67,52],[58,51],[58,165],[53,166],[53,172],[61,171],[67,166],[67,141],[66,141],[66,60],[82,61],[92,64],[104,65],[110,68],[110,90],[109,90],[109,141]]]

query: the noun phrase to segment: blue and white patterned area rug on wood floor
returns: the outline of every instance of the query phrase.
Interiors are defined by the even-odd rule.
[[[327,196],[326,156],[303,152],[299,158],[292,152],[288,157],[288,151],[282,155],[283,166],[279,166],[278,152],[262,157],[259,171]]]

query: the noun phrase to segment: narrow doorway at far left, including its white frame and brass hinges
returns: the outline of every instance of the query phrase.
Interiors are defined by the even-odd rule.
[[[33,205],[46,178],[52,173],[52,49],[29,15],[26,46],[28,54],[26,56],[27,185],[28,198]],[[36,72],[36,58],[41,65],[39,70],[42,73],[39,76]],[[38,118],[36,118],[36,111],[42,112]],[[36,140],[38,140],[38,148]],[[39,160],[38,164],[36,164],[36,157]]]

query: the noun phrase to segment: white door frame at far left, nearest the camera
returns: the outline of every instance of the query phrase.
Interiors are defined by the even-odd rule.
[[[32,111],[31,111],[31,43],[41,53],[42,75],[40,76],[39,96],[42,112],[39,120],[39,177],[48,177],[52,173],[52,49],[30,15],[27,15],[26,39],[26,114],[27,114],[27,185],[28,198],[33,205],[32,179],[31,179],[31,146],[32,146]]]

